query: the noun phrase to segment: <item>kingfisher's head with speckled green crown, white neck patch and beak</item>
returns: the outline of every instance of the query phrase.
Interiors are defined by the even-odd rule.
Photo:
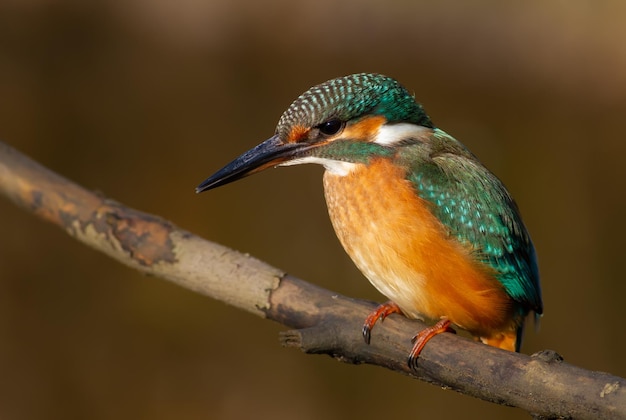
[[[207,178],[196,192],[274,166],[319,163],[345,174],[355,163],[392,153],[424,128],[433,128],[430,119],[396,80],[369,73],[339,77],[300,95],[272,137]]]

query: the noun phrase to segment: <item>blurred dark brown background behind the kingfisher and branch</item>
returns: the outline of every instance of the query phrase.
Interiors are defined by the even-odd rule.
[[[194,187],[311,85],[381,72],[508,185],[546,314],[523,351],[626,375],[626,3],[3,0],[0,138],[68,178],[355,297],[319,167]],[[528,418],[279,346],[0,200],[0,418]],[[506,386],[503,384],[503,386]]]

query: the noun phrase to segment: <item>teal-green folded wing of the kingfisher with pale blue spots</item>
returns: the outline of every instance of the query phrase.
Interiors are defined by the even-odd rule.
[[[493,267],[523,313],[543,312],[535,249],[502,182],[461,143],[436,130],[428,155],[410,159],[408,179],[449,229]],[[410,153],[410,152],[408,152]]]

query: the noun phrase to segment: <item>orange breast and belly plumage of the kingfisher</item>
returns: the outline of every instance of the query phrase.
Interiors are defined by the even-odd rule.
[[[407,316],[446,317],[480,337],[514,334],[513,302],[494,271],[448,235],[401,168],[377,159],[346,176],[326,172],[324,190],[343,247]]]

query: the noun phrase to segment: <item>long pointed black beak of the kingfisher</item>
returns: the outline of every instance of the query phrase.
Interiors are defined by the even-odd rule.
[[[303,143],[283,143],[278,135],[274,135],[208,177],[198,185],[196,193],[217,188],[277,166],[297,157],[299,152],[308,148],[309,146]]]

